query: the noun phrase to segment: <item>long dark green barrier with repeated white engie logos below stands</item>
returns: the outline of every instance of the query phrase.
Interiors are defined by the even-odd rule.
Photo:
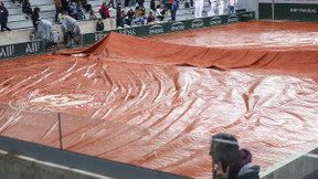
[[[179,32],[186,30],[194,30],[209,28],[221,24],[236,23],[246,20],[255,19],[254,11],[252,12],[242,12],[235,14],[226,15],[216,15],[201,19],[192,19],[184,21],[167,22],[167,23],[157,23],[151,25],[141,25],[126,29],[117,29],[110,31],[95,32],[83,34],[83,44],[93,44],[100,40],[103,36],[107,35],[109,32],[118,32],[121,34],[127,34],[131,36],[151,36],[163,33]]]

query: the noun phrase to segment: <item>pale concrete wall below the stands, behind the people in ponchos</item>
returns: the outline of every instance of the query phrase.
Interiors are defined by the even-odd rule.
[[[116,29],[115,19],[105,19],[103,20],[105,24],[105,30]],[[92,33],[96,31],[97,21],[81,21],[78,22],[81,33]],[[62,25],[55,24],[52,25],[53,31],[57,31],[61,34],[60,42],[63,40]],[[30,42],[30,34],[34,33],[34,28],[30,29],[20,29],[13,31],[6,31],[0,33],[0,45],[14,44]]]

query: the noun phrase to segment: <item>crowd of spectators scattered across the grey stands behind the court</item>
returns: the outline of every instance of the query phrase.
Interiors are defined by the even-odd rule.
[[[92,9],[92,6],[87,2],[87,0],[54,0],[55,1],[55,22],[61,23],[62,17],[68,15],[75,20],[86,19],[85,14],[89,13],[89,20],[98,20],[96,22],[96,30],[104,30],[103,19],[110,18],[109,9],[116,9],[116,24],[117,28],[124,28],[125,25],[139,25],[139,24],[149,24],[157,23],[159,21],[163,21],[170,11],[171,19],[170,21],[176,21],[177,10],[180,7],[180,0],[159,0],[150,1],[150,8],[146,9],[144,6],[145,0],[125,0],[124,7],[128,8],[127,11],[121,9],[121,0],[109,0],[108,3],[106,1],[100,6],[98,13],[100,19],[98,19],[95,14],[95,11]],[[186,1],[187,7],[193,7],[193,0],[190,0],[190,4],[188,0]],[[209,15],[224,13],[224,1],[218,0],[219,4],[216,4],[216,0],[210,0],[211,10],[208,13]],[[38,29],[38,24],[41,21],[40,17],[40,8],[35,7],[32,11],[30,0],[12,0],[15,6],[22,7],[22,12],[25,13],[25,19],[32,20],[33,27],[35,30]],[[237,3],[237,0],[227,0],[229,13],[234,13],[234,6]],[[0,3],[0,20],[1,20],[1,31],[11,30],[7,27],[9,11],[4,7],[3,2]],[[201,18],[203,11],[203,0],[194,0],[194,17]],[[115,17],[113,17],[115,18]],[[103,25],[102,25],[103,24]],[[103,28],[102,28],[103,27]]]

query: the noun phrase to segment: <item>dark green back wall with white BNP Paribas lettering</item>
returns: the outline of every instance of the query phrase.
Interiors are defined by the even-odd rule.
[[[259,0],[259,19],[272,19],[272,0]],[[274,0],[274,20],[318,22],[318,0]]]

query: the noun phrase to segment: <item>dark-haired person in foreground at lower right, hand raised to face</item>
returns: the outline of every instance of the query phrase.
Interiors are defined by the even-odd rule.
[[[239,150],[236,138],[229,133],[212,136],[210,155],[213,179],[259,178],[259,166],[252,164],[252,154],[246,149]]]

